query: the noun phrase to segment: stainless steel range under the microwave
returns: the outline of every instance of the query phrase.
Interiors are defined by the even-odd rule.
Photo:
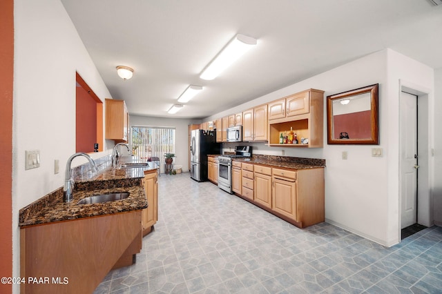
[[[218,157],[218,187],[232,194],[232,159],[251,157],[251,146],[236,146],[235,154]]]

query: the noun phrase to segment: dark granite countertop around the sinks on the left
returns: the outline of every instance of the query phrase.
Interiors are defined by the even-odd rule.
[[[133,157],[122,157],[121,163],[139,162]],[[142,178],[144,170],[156,173],[156,164],[149,162],[149,166],[142,168],[113,168],[108,160],[99,163],[99,171],[90,173],[88,164],[74,168],[73,201],[63,202],[63,187],[41,197],[37,201],[21,208],[19,212],[19,226],[21,228],[37,224],[49,224],[82,217],[96,217],[123,213],[131,210],[140,210],[148,206]],[[77,204],[80,199],[108,194],[128,192],[126,199],[97,204]]]

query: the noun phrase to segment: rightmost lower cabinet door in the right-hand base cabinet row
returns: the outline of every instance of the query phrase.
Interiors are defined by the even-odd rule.
[[[273,177],[271,208],[281,215],[296,219],[296,182]]]

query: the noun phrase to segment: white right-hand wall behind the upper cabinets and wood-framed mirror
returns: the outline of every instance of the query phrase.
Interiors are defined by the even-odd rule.
[[[322,158],[325,168],[325,217],[354,233],[391,246],[400,240],[398,229],[398,85],[399,79],[432,88],[432,69],[392,50],[375,52],[333,70],[300,81],[246,104],[220,112],[212,120],[247,110],[308,88],[327,95],[379,84],[379,133],[383,157],[372,157],[374,146],[327,145],[324,148],[269,147],[252,143],[253,153]],[[324,126],[327,126],[324,103]],[[432,136],[432,135],[431,135]],[[233,148],[224,144],[224,148]],[[347,151],[348,159],[342,159]]]

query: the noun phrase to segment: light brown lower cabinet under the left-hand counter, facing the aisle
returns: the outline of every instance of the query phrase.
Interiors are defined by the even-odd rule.
[[[142,235],[151,233],[152,226],[158,220],[158,175],[156,170],[144,171],[144,192],[147,197],[147,208],[142,210]]]

